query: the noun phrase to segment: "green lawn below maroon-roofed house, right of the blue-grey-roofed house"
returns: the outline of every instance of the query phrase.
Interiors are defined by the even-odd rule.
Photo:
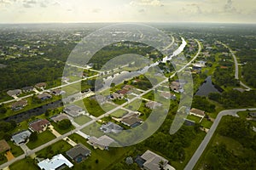
[[[55,139],[55,135],[50,133],[49,130],[46,130],[44,133],[38,134],[38,139],[35,142],[28,142],[26,145],[29,149],[35,149],[38,146],[49,142],[50,140]]]

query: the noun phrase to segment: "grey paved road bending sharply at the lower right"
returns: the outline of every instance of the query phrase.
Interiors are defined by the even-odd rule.
[[[250,111],[256,111],[256,108],[249,109]],[[215,132],[216,128],[218,127],[218,123],[220,122],[222,116],[238,116],[236,113],[238,111],[247,111],[247,109],[236,109],[236,110],[225,110],[225,111],[220,111],[218,113],[218,116],[216,117],[215,121],[212,124],[212,127],[208,131],[206,137],[203,139],[197,150],[195,150],[194,155],[191,157],[189,163],[187,166],[184,168],[185,170],[190,170],[195,167],[196,162],[199,160],[201,157],[201,154],[203,151],[206,149],[207,144],[210,142],[213,133]]]

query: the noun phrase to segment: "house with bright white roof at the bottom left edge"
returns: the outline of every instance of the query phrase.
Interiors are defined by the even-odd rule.
[[[41,170],[60,170],[65,167],[73,167],[73,163],[68,161],[65,156],[59,154],[53,156],[50,160],[47,158],[44,161],[38,162],[38,167],[40,167]]]

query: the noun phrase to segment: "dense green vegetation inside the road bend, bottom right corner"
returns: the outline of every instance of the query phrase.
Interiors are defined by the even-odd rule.
[[[253,169],[256,164],[252,125],[242,118],[224,116],[196,169]]]

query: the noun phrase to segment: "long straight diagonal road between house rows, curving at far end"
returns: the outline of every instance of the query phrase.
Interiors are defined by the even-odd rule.
[[[198,42],[198,41],[196,40],[196,42]],[[198,55],[200,54],[200,52],[201,52],[201,44],[200,44],[200,42],[198,42],[198,44],[199,44],[199,50],[198,50],[198,53],[197,53],[197,54],[195,55],[195,57],[193,58],[194,60],[197,58],[197,56],[198,56]],[[193,60],[192,60],[192,61],[193,61]],[[191,64],[192,61],[190,61],[189,63]],[[188,65],[189,65],[189,64],[188,64]],[[179,71],[182,71],[182,70],[185,69],[188,65],[184,65],[183,68],[180,69]],[[172,75],[172,77],[174,77],[175,74],[176,74],[176,73],[174,73],[174,74]],[[97,75],[96,75],[96,76],[97,76]],[[131,103],[132,101],[135,101],[136,99],[141,98],[144,94],[147,94],[147,93],[150,92],[152,89],[159,87],[162,83],[167,82],[167,81],[168,81],[168,78],[166,78],[166,80],[164,80],[163,82],[160,82],[159,84],[155,85],[153,88],[150,88],[150,89],[148,89],[147,91],[144,91],[142,94],[137,95],[137,97],[135,97],[135,98],[129,100],[129,102]],[[78,81],[76,81],[76,82],[78,82]],[[63,135],[61,135],[61,136],[59,136],[59,137],[57,137],[57,138],[55,138],[55,139],[49,141],[49,142],[46,143],[46,144],[42,144],[42,145],[38,146],[38,148],[36,148],[36,149],[34,149],[34,150],[28,150],[26,154],[23,154],[23,155],[21,155],[21,156],[15,157],[15,159],[13,159],[13,160],[11,160],[11,161],[8,161],[8,162],[6,162],[6,163],[3,163],[2,165],[0,165],[0,168],[3,169],[4,167],[9,167],[9,165],[11,165],[12,163],[14,163],[15,161],[19,161],[19,160],[25,158],[25,156],[30,156],[30,155],[32,155],[32,154],[38,152],[39,150],[43,150],[45,147],[47,147],[47,146],[49,146],[49,145],[51,145],[51,144],[55,144],[55,142],[60,141],[61,139],[64,139],[64,138],[66,138],[67,136],[69,136],[69,135],[71,135],[71,134],[73,134],[73,133],[78,133],[78,132],[79,132],[81,129],[83,129],[84,127],[87,127],[87,126],[89,126],[90,124],[92,124],[92,123],[94,123],[94,122],[96,122],[96,121],[102,119],[102,117],[104,117],[104,116],[110,115],[111,113],[113,113],[114,111],[117,111],[117,110],[121,109],[121,108],[124,107],[125,105],[127,105],[127,102],[125,102],[123,105],[119,105],[118,107],[114,108],[114,109],[111,110],[111,111],[108,111],[107,113],[103,114],[102,116],[96,117],[96,119],[91,120],[90,122],[86,122],[86,123],[85,123],[84,125],[82,125],[82,126],[76,127],[74,130],[72,130],[72,131],[70,131],[70,132],[68,132],[68,133],[63,134]]]

